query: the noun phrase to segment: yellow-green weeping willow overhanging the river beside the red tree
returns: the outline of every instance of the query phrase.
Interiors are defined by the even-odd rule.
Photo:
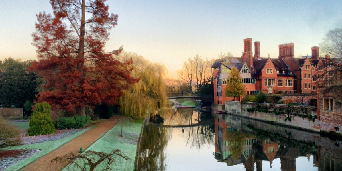
[[[167,107],[166,85],[163,81],[165,66],[151,63],[136,53],[123,52],[117,58],[124,62],[132,58],[133,78],[140,81],[124,91],[119,99],[119,110],[126,117],[144,118],[146,114],[155,114],[159,108]]]

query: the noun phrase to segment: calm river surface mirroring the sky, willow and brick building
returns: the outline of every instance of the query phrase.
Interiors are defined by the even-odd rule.
[[[342,170],[342,142],[317,133],[194,109],[162,116],[144,127],[139,170]]]

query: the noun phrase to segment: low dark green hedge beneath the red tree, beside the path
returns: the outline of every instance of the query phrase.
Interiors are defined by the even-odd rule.
[[[74,116],[59,118],[57,127],[58,129],[70,129],[70,128],[84,128],[90,123],[90,116]]]

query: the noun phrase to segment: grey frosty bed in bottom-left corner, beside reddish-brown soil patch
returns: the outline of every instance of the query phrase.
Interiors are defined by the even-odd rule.
[[[39,149],[27,149],[24,153],[22,153],[21,155],[18,155],[16,157],[7,157],[7,158],[3,158],[0,159],[0,170],[4,170],[10,166],[12,166],[14,163],[20,161],[20,160],[24,160],[36,153],[39,153],[41,150]],[[16,169],[16,168],[15,168]]]

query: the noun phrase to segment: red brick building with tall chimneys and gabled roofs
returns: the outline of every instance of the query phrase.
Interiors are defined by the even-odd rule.
[[[233,97],[225,96],[225,84],[232,67],[237,67],[246,86],[246,95],[262,91],[273,94],[315,93],[327,79],[326,58],[319,57],[319,47],[311,48],[311,56],[294,57],[294,43],[279,45],[278,58],[261,57],[260,42],[252,38],[244,39],[244,51],[241,57],[226,57],[216,60],[212,65],[214,76],[214,102],[224,104]],[[327,67],[328,66],[328,67]],[[238,98],[241,101],[242,97]]]

